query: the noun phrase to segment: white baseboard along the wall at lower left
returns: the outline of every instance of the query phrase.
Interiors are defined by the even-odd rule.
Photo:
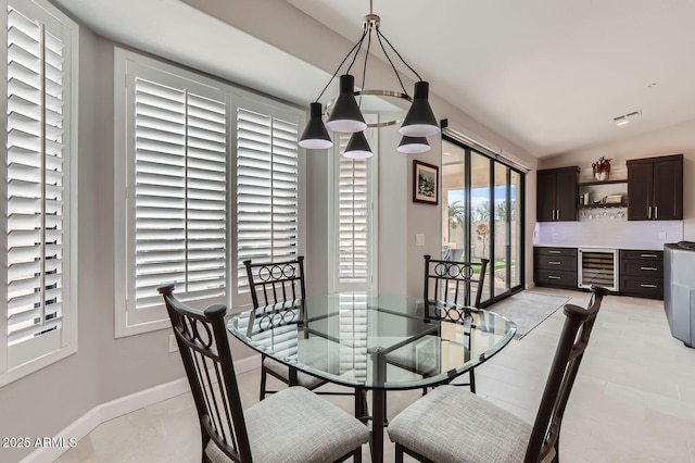
[[[258,367],[261,367],[261,355],[252,355],[235,362],[235,372],[237,374]],[[101,403],[61,430],[53,438],[53,446],[55,447],[49,445],[38,448],[22,460],[22,463],[52,462],[70,450],[71,447],[68,442],[71,442],[71,439],[73,439],[73,441],[75,439],[79,441],[102,423],[163,400],[180,396],[189,390],[188,379],[182,377],[110,402]]]

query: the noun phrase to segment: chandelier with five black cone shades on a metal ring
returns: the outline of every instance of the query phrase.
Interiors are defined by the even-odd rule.
[[[342,62],[331,76],[328,84],[326,84],[326,87],[324,87],[324,90],[321,90],[316,101],[311,104],[309,121],[299,142],[301,147],[307,149],[330,148],[332,146],[332,141],[330,139],[330,136],[328,135],[328,129],[342,134],[353,134],[350,141],[348,142],[348,148],[344,155],[351,158],[367,158],[366,153],[368,152],[370,153],[369,155],[371,155],[371,149],[369,149],[367,139],[364,136],[364,130],[368,127],[378,128],[403,122],[399,132],[404,135],[404,138],[401,140],[397,150],[404,153],[419,153],[429,150],[429,145],[424,137],[437,135],[440,132],[439,123],[428,101],[429,84],[422,80],[420,75],[408,63],[405,62],[401,53],[396,51],[389,39],[386,38],[383,34],[381,34],[381,32],[379,30],[381,18],[372,13],[372,2],[370,0],[369,14],[367,14],[363,21],[362,37],[348,52],[345,58],[343,58]],[[403,90],[402,92],[393,90],[355,89],[355,78],[352,74],[350,74],[350,72],[355,64],[355,61],[357,60],[357,55],[362,50],[365,39],[367,39],[364,66],[362,71],[362,87],[364,88],[372,35],[376,36],[383,54],[389,61],[389,64],[391,64],[391,68],[393,70],[401,89]],[[387,51],[387,48],[390,51]],[[401,75],[393,64],[393,54],[395,54],[395,57],[397,57],[397,59],[408,70],[410,70],[417,78],[417,82],[415,83],[414,97],[410,97],[405,90]],[[328,121],[324,125],[320,114],[321,105],[319,103],[319,100],[349,60],[351,60],[351,62],[348,66],[348,70],[340,76],[340,95],[334,100],[334,102],[328,103],[330,115],[328,117]],[[359,99],[362,99],[362,97],[365,95],[399,98],[402,100],[406,100],[412,104],[403,121],[394,120],[367,124],[365,123],[365,118],[359,110],[359,104],[357,103],[357,100],[355,100],[355,97],[359,97]],[[351,148],[352,151],[350,150]],[[349,153],[351,154],[349,155]]]

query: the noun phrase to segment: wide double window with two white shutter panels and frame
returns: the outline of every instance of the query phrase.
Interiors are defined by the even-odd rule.
[[[304,114],[131,51],[114,66],[116,337],[170,326],[162,284],[193,306],[245,303],[243,260],[298,253]]]

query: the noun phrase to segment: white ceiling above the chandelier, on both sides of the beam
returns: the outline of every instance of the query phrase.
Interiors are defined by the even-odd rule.
[[[250,60],[236,82],[291,101],[313,100],[328,78],[177,0],[55,2],[106,37],[213,74]],[[369,10],[367,0],[288,2],[351,41]],[[376,0],[374,12],[432,92],[536,157],[695,118],[693,0]],[[172,37],[172,24],[188,34]],[[219,60],[231,36],[254,48]],[[256,51],[275,58],[253,61]],[[277,60],[293,70],[281,85],[267,79]]]

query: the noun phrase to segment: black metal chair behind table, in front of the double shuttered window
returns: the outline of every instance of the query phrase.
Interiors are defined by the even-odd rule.
[[[278,304],[283,305],[296,302],[300,299],[304,300],[306,298],[303,255],[299,255],[294,260],[282,262],[254,263],[251,260],[247,260],[243,264],[247,268],[247,278],[249,279],[251,299],[253,301],[254,309]],[[309,345],[315,339],[309,338]],[[327,383],[321,378],[317,378],[302,372],[291,371],[289,366],[262,354],[260,400],[263,400],[267,393],[276,392],[266,389],[267,375],[270,375],[288,385],[295,383],[296,385],[309,390],[315,390]],[[293,376],[295,376],[295,378],[293,378]],[[364,391],[359,389],[355,389],[353,392],[316,392],[332,396],[354,396],[355,416],[363,416],[366,414],[366,398],[364,397]]]

